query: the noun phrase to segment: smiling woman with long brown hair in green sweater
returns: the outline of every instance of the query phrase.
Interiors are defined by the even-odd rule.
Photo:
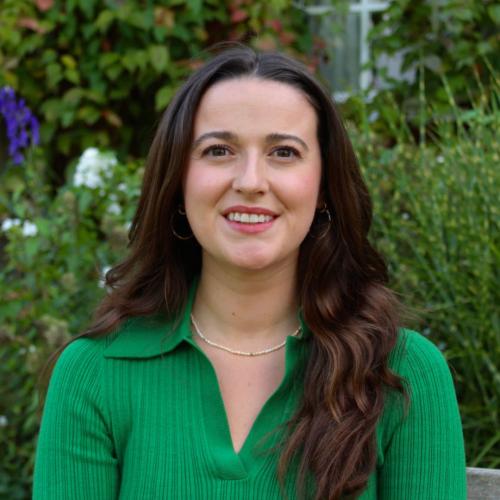
[[[130,254],[55,366],[34,497],[465,498],[449,369],[399,328],[370,222],[304,67],[237,47],[197,70]]]

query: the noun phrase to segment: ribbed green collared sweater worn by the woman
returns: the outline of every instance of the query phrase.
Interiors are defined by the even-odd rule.
[[[215,371],[191,337],[193,295],[176,328],[161,317],[129,320],[63,351],[38,438],[35,500],[283,498],[276,454],[257,444],[296,408],[310,332],[303,325],[302,337],[288,337],[284,379],[235,453]],[[408,381],[412,404],[403,419],[402,405],[388,398],[377,468],[358,498],[465,499],[463,434],[445,359],[425,337],[400,330],[390,366]],[[286,492],[295,498],[293,477]]]

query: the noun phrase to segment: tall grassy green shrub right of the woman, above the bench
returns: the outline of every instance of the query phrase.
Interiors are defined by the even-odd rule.
[[[432,143],[413,143],[403,117],[394,147],[369,123],[355,142],[373,195],[372,238],[392,286],[419,318],[410,326],[452,368],[467,464],[498,468],[500,110],[498,100],[490,104],[451,108],[455,118],[438,123]]]

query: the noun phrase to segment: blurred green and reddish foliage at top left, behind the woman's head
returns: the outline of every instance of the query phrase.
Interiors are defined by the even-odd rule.
[[[86,147],[144,156],[159,113],[224,40],[305,53],[290,0],[3,0],[0,85],[42,122],[52,182]],[[206,55],[206,54],[205,54]]]

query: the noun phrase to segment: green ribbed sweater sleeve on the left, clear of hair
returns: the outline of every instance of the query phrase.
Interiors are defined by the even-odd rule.
[[[75,340],[54,367],[36,448],[34,500],[118,497],[118,461],[106,425],[104,360],[97,344]]]

